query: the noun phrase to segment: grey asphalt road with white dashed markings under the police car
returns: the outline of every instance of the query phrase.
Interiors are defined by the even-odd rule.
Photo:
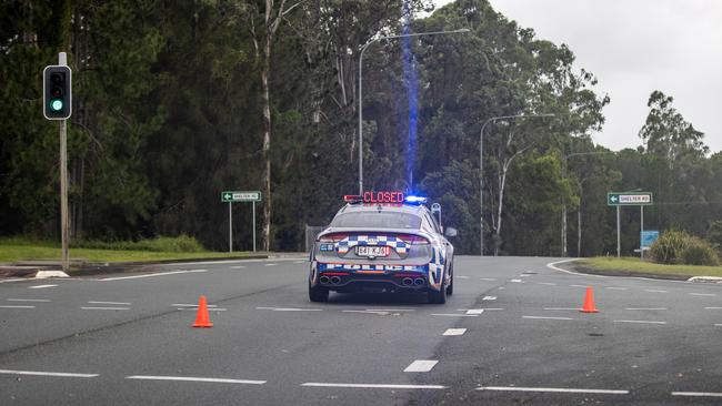
[[[722,286],[551,262],[458,257],[445,305],[310,303],[302,258],[0,280],[0,404],[722,404]]]

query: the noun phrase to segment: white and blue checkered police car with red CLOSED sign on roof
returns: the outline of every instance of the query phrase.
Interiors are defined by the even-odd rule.
[[[425,197],[401,192],[344,196],[311,251],[309,298],[329,292],[420,292],[443,304],[453,293],[453,246],[424,205]]]

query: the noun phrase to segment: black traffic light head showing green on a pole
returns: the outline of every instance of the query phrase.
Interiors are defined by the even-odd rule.
[[[49,65],[42,71],[42,113],[48,120],[67,120],[72,113],[71,71]]]

